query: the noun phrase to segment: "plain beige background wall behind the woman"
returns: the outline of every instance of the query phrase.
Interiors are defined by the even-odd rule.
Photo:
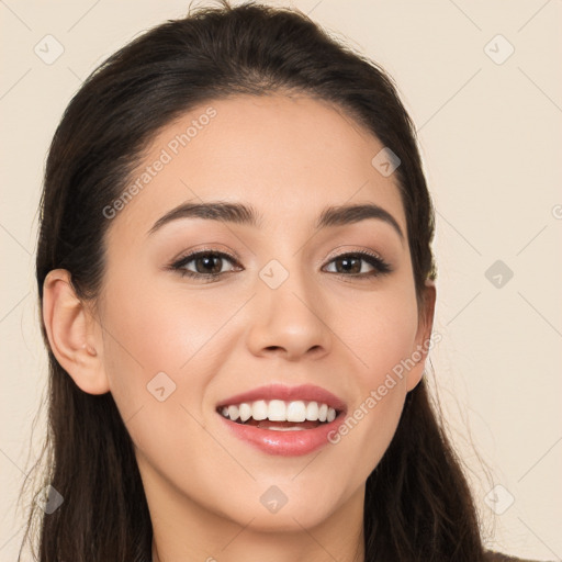
[[[436,330],[442,340],[431,360],[451,432],[482,516],[494,524],[490,544],[560,560],[561,2],[268,3],[310,13],[398,83],[437,207]],[[32,422],[46,383],[33,259],[50,137],[98,63],[187,9],[188,2],[172,0],[0,2],[2,561],[16,559],[23,525],[16,493],[33,461]],[[48,34],[64,47],[50,65],[34,52],[53,41],[44,40]],[[493,284],[498,278],[488,274],[491,282],[485,274],[496,260],[514,273],[499,288]],[[34,451],[43,424],[42,415]],[[494,503],[495,485],[503,487]]]

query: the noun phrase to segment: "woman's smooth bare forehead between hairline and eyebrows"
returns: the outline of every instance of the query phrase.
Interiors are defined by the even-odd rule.
[[[249,203],[282,229],[313,224],[327,204],[374,202],[405,233],[395,176],[372,164],[383,148],[341,109],[307,95],[211,100],[153,139],[110,237],[134,244],[172,207],[206,200]]]

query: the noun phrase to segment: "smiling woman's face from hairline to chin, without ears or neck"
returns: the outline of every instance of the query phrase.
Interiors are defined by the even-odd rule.
[[[396,162],[382,149],[311,98],[213,101],[159,133],[127,194],[104,211],[98,355],[156,520],[189,512],[288,530],[361,513],[430,334],[418,327]],[[240,212],[170,215],[216,202],[251,207],[256,224]],[[323,212],[345,205],[384,213],[317,227]],[[226,256],[182,259],[200,250]],[[268,385],[339,398],[329,435],[326,423],[265,429],[217,411]],[[331,401],[261,390],[246,402],[302,398],[314,417],[310,402],[322,411]],[[291,408],[300,416],[303,406]]]

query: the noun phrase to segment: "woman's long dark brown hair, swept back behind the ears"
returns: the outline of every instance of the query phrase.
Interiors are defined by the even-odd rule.
[[[392,80],[299,11],[223,1],[135,38],[85,81],[66,109],[41,202],[40,310],[45,277],[56,268],[71,273],[80,299],[99,296],[110,224],[103,209],[123,192],[164,126],[211,100],[273,92],[331,102],[401,159],[395,175],[423,304],[424,283],[436,274],[434,209],[415,130]],[[48,515],[32,503],[24,542],[36,519],[41,562],[149,562],[150,517],[113,397],[82,392],[55,359],[43,321],[42,331],[48,432],[37,488],[52,485],[64,503]],[[483,560],[470,490],[438,419],[423,380],[407,394],[396,434],[367,480],[366,561]]]

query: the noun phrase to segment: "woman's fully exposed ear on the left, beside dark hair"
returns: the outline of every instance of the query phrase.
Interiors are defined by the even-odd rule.
[[[75,383],[89,394],[109,392],[99,323],[76,296],[65,269],[54,269],[45,278],[43,322],[54,356]]]

